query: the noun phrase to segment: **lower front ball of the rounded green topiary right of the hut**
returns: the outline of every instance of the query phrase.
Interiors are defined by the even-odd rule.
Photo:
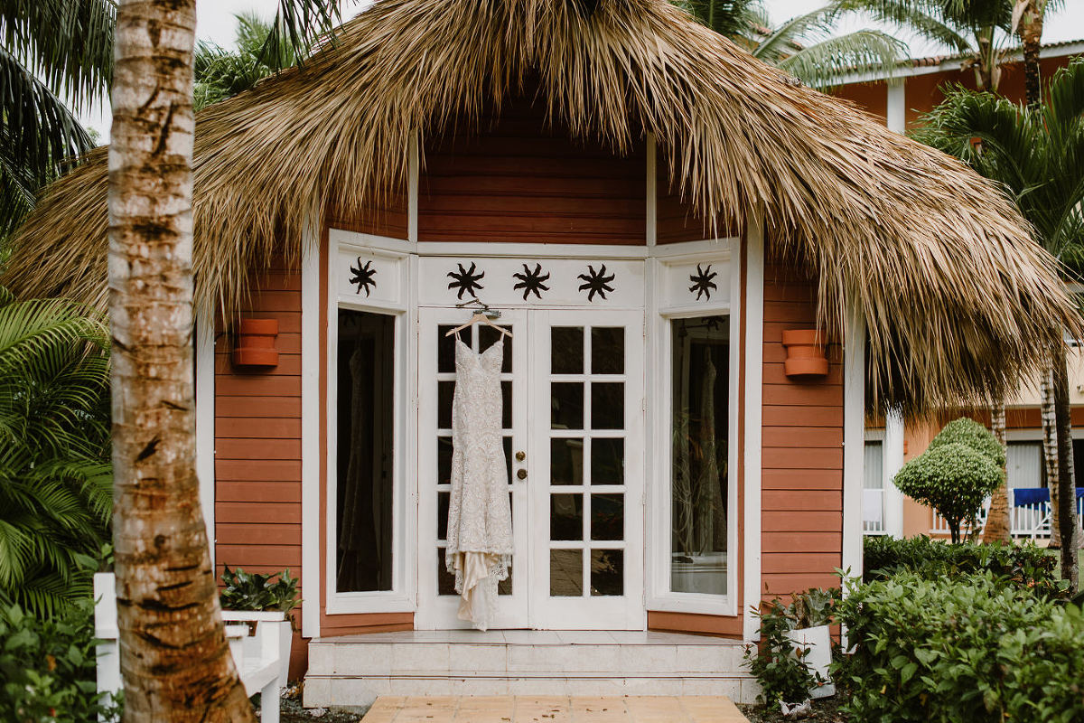
[[[952,541],[959,542],[960,521],[976,516],[986,496],[1004,483],[1004,474],[989,454],[947,442],[931,446],[903,465],[892,481],[904,494],[941,513]]]

